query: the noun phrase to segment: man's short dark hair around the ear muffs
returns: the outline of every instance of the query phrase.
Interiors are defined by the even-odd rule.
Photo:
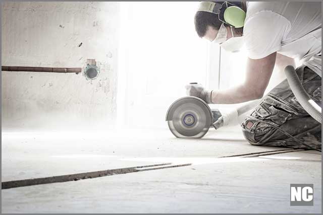
[[[217,4],[223,4],[225,2],[216,2]],[[243,5],[241,2],[230,2],[242,9]],[[224,20],[223,14],[224,11],[227,9],[226,4],[223,5],[224,7],[220,10],[220,19]],[[210,26],[216,30],[220,29],[222,21],[219,20],[219,16],[217,14],[212,14],[209,12],[198,11],[194,17],[194,24],[195,24],[195,31],[199,37],[203,37],[206,33],[207,27]],[[224,24],[226,27],[229,26]],[[239,31],[242,32],[242,28],[239,28]]]

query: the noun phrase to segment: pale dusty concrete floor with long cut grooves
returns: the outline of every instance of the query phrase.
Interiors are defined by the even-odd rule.
[[[3,189],[2,212],[320,213],[320,153],[220,158],[280,149],[251,146],[241,133],[220,130],[202,139],[178,139],[169,130],[3,132],[3,182],[191,165]],[[313,183],[314,206],[290,206],[291,183]]]

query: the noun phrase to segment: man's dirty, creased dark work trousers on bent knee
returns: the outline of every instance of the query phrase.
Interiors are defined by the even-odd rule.
[[[321,106],[321,78],[304,65],[296,73],[309,96]],[[321,124],[298,103],[287,80],[263,97],[241,127],[252,145],[321,149]]]

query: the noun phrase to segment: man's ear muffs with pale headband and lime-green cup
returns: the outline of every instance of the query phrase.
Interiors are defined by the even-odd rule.
[[[226,4],[227,8],[224,11],[224,20],[220,19],[220,13],[223,5]],[[231,6],[228,6],[231,5]],[[241,8],[230,2],[224,2],[223,4],[215,2],[201,2],[197,10],[204,11],[212,14],[216,14],[219,17],[219,20],[235,28],[241,28],[244,25],[244,20],[246,18],[246,12]]]

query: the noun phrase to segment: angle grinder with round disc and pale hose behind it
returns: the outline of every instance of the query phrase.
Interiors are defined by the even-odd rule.
[[[210,109],[205,101],[198,97],[182,97],[169,107],[166,121],[176,137],[201,138],[210,127],[219,129],[223,126],[239,124],[261,99],[250,101],[231,112],[221,113]]]

